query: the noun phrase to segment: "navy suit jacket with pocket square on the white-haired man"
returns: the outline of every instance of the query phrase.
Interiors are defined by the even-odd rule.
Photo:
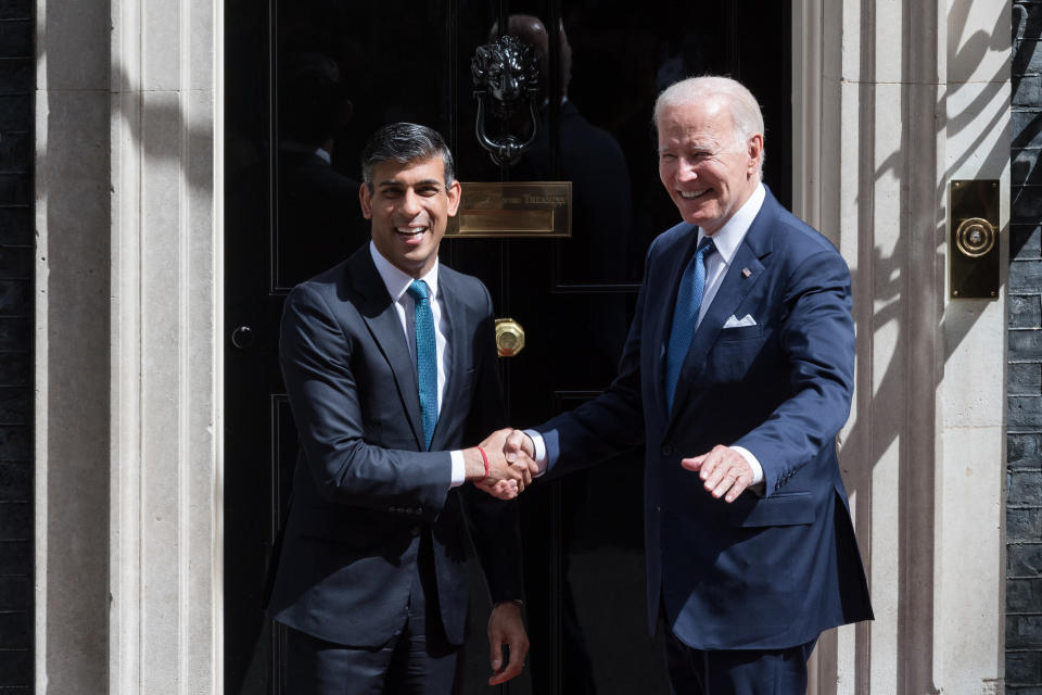
[[[660,602],[683,642],[773,649],[872,618],[835,438],[850,412],[850,273],[827,239],[767,192],[706,313],[666,412],[665,349],[697,230],[647,254],[618,378],[550,420],[550,475],[646,445],[648,626]],[[755,326],[724,328],[750,315]],[[681,459],[716,444],[761,462],[765,494],[714,500]]]

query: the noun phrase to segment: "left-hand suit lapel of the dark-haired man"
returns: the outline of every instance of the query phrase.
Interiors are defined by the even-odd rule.
[[[355,290],[364,298],[363,320],[366,321],[369,333],[391,367],[402,407],[408,415],[409,427],[412,429],[417,446],[422,450],[423,419],[420,414],[416,365],[412,362],[412,355],[409,354],[409,345],[405,341],[398,313],[387,294],[383,278],[372,263],[368,244],[351,257],[346,270],[351,274]]]

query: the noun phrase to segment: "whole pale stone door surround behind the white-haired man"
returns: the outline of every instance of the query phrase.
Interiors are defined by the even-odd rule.
[[[1004,296],[950,299],[946,239],[950,181],[999,179],[1007,244],[1009,3],[815,4],[822,117],[797,200],[854,279],[840,445],[876,611],[823,636],[816,691],[997,692]]]

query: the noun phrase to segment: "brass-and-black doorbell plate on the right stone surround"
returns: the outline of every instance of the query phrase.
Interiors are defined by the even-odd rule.
[[[999,181],[953,180],[949,185],[951,236],[949,285],[954,299],[999,296]]]

